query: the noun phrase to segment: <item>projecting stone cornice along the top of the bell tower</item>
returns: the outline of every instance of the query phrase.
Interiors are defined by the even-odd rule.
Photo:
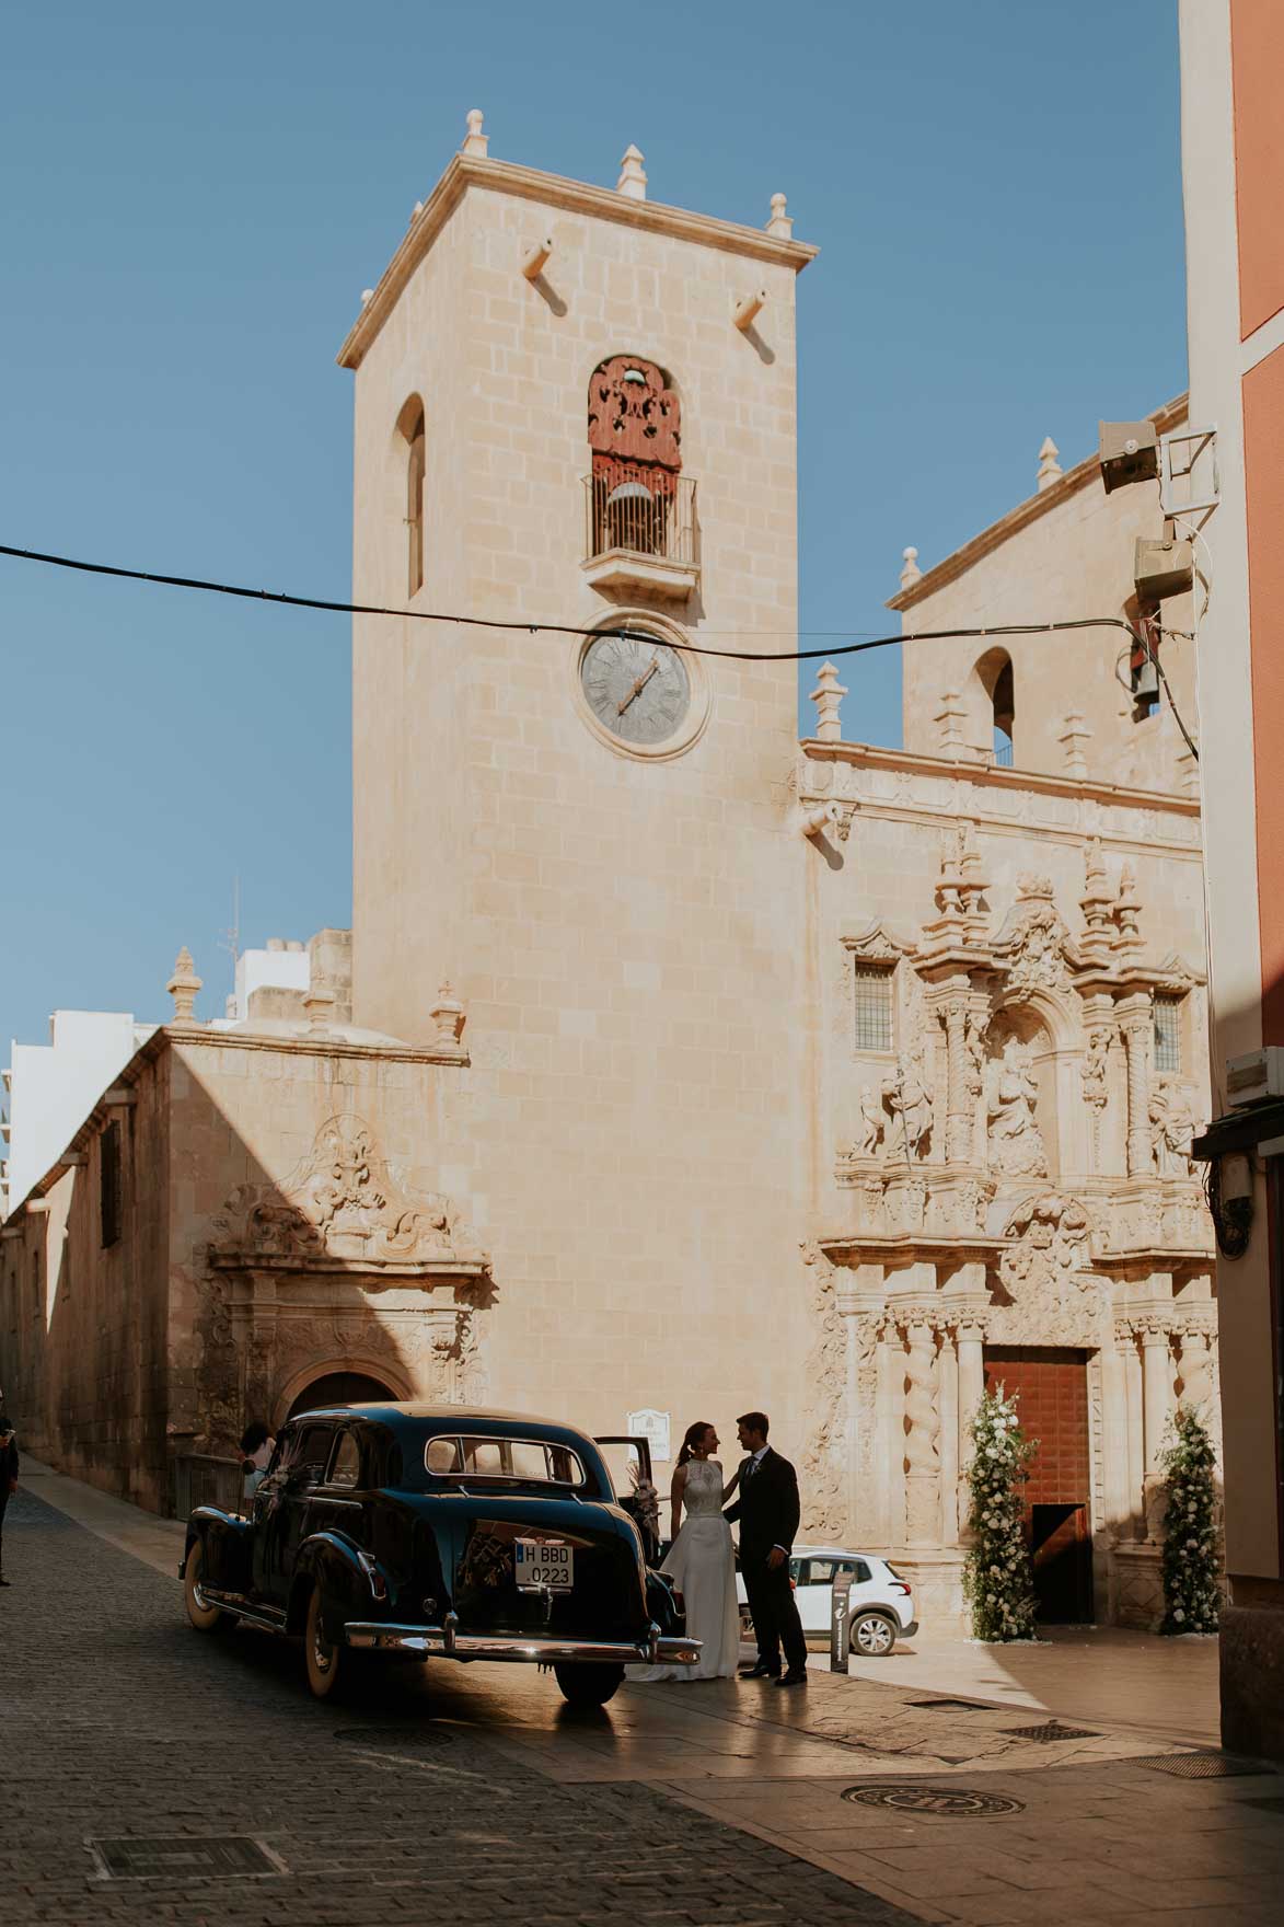
[[[719,222],[709,214],[669,208],[659,200],[630,200],[629,195],[621,195],[613,187],[590,187],[586,181],[567,181],[559,173],[521,168],[511,160],[480,160],[472,154],[455,154],[432,195],[411,222],[401,247],[380,276],[372,299],[353,322],[335,356],[339,368],[361,368],[362,356],[397,304],[401,291],[468,187],[486,187],[497,195],[538,200],[567,214],[590,214],[598,220],[619,222],[623,227],[642,227],[650,233],[673,235],[679,241],[721,249],[727,254],[775,262],[781,268],[792,268],[794,274],[802,272],[819,252],[819,249],[808,247],[806,241],[783,241],[762,227]],[[513,264],[513,272],[517,274],[517,262]]]

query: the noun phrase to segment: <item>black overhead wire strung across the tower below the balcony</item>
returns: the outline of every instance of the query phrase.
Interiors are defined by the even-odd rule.
[[[71,568],[79,574],[89,576],[114,576],[125,582],[152,582],[162,588],[174,590],[199,590],[206,595],[235,595],[243,601],[262,601],[278,603],[287,609],[322,609],[332,615],[380,615],[380,617],[399,617],[415,622],[449,622],[461,628],[495,628],[513,630],[521,634],[546,634],[546,636],[621,636],[627,642],[654,642],[652,634],[636,628],[613,628],[600,622],[594,624],[571,624],[571,622],[522,622],[522,620],[503,620],[497,617],[484,615],[449,615],[438,609],[388,609],[380,603],[345,603],[330,601],[322,595],[289,595],[283,590],[251,590],[235,582],[206,582],[201,576],[170,576],[158,574],[150,568],[123,568],[114,563],[85,563],[71,555],[48,555],[40,549],[17,549],[6,541],[0,541],[0,555],[10,555],[23,563],[42,563],[50,568]],[[910,630],[898,636],[871,636],[868,642],[841,642],[823,649],[709,649],[698,642],[675,642],[673,647],[684,651],[686,655],[713,655],[723,657],[731,663],[810,663],[816,657],[827,655],[862,655],[866,649],[891,649],[902,642],[947,642],[956,636],[981,638],[981,636],[1045,636],[1062,630],[1076,628],[1122,628],[1134,642],[1141,642],[1137,630],[1132,622],[1126,622],[1118,615],[1101,617],[1074,617],[1060,622],[1001,622],[985,628],[922,628]],[[835,630],[835,634],[848,634],[850,630]],[[1188,738],[1190,740],[1190,738]]]

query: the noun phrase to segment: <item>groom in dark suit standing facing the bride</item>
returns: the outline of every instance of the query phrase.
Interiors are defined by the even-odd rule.
[[[740,1520],[740,1572],[758,1636],[758,1665],[744,1676],[806,1686],[808,1642],[789,1582],[789,1555],[798,1530],[798,1476],[789,1459],[767,1445],[765,1412],[744,1412],[736,1426],[748,1457],[740,1466],[736,1503],[727,1507],[723,1518]],[[783,1676],[781,1646],[787,1659]]]

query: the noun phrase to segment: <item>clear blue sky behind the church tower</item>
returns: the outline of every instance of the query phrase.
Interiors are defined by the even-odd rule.
[[[821,247],[800,293],[802,626],[885,632],[900,551],[1030,493],[1053,434],[1186,382],[1170,0],[278,0],[12,10],[0,541],[345,597],[334,355],[486,110],[492,154]],[[1035,613],[1035,611],[1031,611]],[[557,611],[551,611],[555,617]],[[343,617],[0,559],[0,1050],[160,1017],[191,944],[351,913]],[[898,742],[896,651],[848,736]],[[810,684],[808,684],[810,686]]]

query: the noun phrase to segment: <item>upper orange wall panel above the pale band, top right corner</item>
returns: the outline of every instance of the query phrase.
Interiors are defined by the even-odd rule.
[[[1284,0],[1230,0],[1240,335],[1284,308]]]

